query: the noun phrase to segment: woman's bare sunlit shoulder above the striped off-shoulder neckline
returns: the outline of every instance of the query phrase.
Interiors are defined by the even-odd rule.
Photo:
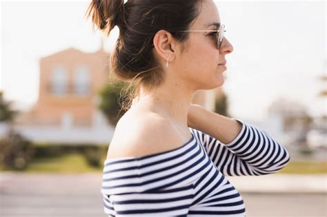
[[[107,159],[166,152],[186,143],[189,135],[158,114],[126,112],[117,123]]]

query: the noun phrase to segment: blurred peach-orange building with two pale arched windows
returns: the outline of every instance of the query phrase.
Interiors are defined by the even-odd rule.
[[[74,48],[41,58],[39,98],[19,123],[92,125],[97,91],[108,77],[108,66],[103,67],[107,61],[103,50],[85,53]]]

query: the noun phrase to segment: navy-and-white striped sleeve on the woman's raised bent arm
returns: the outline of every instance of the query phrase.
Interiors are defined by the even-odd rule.
[[[189,127],[225,176],[273,174],[288,164],[290,155],[283,145],[257,127],[234,119],[243,126],[241,132],[228,144]]]

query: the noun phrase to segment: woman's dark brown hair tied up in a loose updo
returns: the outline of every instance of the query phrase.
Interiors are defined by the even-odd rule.
[[[161,64],[152,52],[153,38],[167,30],[179,42],[182,51],[192,21],[199,16],[201,0],[93,0],[87,11],[95,27],[107,36],[115,25],[119,28],[115,50],[110,54],[110,76],[130,83],[128,110],[142,85],[146,90],[164,81]],[[132,87],[133,88],[130,88]],[[129,91],[132,90],[132,92]]]

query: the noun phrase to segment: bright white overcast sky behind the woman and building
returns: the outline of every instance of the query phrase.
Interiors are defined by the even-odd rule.
[[[101,32],[84,14],[89,1],[0,1],[0,90],[14,106],[28,109],[39,90],[39,59],[76,48],[95,52]],[[326,83],[326,1],[215,1],[226,38],[223,85],[230,114],[262,120],[280,97],[303,104],[312,116],[326,114],[318,96]],[[119,31],[103,39],[110,52]],[[326,88],[327,89],[327,88]]]

